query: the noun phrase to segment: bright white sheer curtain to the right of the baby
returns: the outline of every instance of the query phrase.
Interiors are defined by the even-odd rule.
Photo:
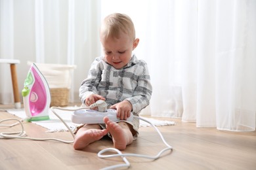
[[[154,88],[146,111],[230,131],[255,130],[255,9],[255,1],[102,2],[104,14],[135,22],[135,53]]]

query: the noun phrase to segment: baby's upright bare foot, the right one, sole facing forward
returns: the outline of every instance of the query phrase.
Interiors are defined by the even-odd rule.
[[[125,122],[112,122],[108,117],[104,117],[106,129],[112,135],[114,147],[124,150],[128,144],[133,142],[133,135]]]

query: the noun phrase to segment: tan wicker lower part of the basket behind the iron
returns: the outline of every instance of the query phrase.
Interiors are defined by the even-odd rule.
[[[70,90],[68,88],[50,88],[51,107],[62,107],[68,105]]]

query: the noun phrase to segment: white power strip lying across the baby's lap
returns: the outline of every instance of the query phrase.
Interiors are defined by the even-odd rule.
[[[107,116],[113,122],[117,122],[119,118],[116,116],[116,110],[107,109],[106,112],[98,112],[92,109],[75,110],[72,113],[71,120],[75,124],[104,124],[103,118]],[[127,121],[133,121],[133,114],[127,118]]]

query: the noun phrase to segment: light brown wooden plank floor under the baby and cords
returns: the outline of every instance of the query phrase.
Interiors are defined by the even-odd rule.
[[[0,107],[3,109],[3,105]],[[15,118],[0,111],[0,120]],[[198,128],[179,119],[175,126],[159,127],[173,152],[158,160],[128,158],[130,169],[256,169],[256,132],[234,133],[215,128]],[[45,133],[45,128],[24,124],[28,137],[54,137],[72,140],[68,132]],[[20,126],[0,127],[0,132],[20,130]],[[124,153],[154,156],[165,148],[152,127],[140,127],[139,138]],[[85,150],[74,150],[72,144],[53,141],[0,139],[0,169],[101,169],[122,163],[119,158],[104,160],[97,153],[112,147],[112,141],[102,139]]]

